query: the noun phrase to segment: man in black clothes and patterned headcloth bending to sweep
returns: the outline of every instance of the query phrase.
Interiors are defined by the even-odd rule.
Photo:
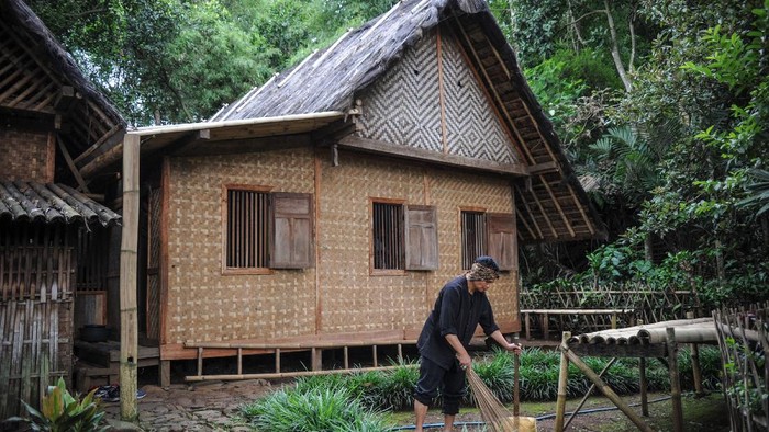
[[[482,255],[470,271],[449,281],[438,293],[416,342],[421,362],[414,389],[416,432],[422,432],[427,408],[438,395],[438,388],[443,395],[444,431],[453,430],[459,401],[465,396],[465,370],[472,366],[467,346],[478,325],[505,350],[521,352],[520,344],[510,343],[502,336],[486,296],[489,285],[498,278],[497,262]]]

